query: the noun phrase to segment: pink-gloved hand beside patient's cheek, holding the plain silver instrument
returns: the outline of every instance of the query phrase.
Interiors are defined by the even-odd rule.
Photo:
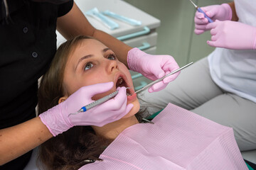
[[[129,50],[127,63],[129,69],[134,72],[139,72],[144,75],[144,77],[151,80],[160,79],[179,68],[174,57],[170,55],[148,55],[138,48]],[[164,89],[170,81],[178,77],[179,73],[180,72],[177,72],[176,74],[166,77],[163,81],[151,86],[148,91],[151,93]]]

